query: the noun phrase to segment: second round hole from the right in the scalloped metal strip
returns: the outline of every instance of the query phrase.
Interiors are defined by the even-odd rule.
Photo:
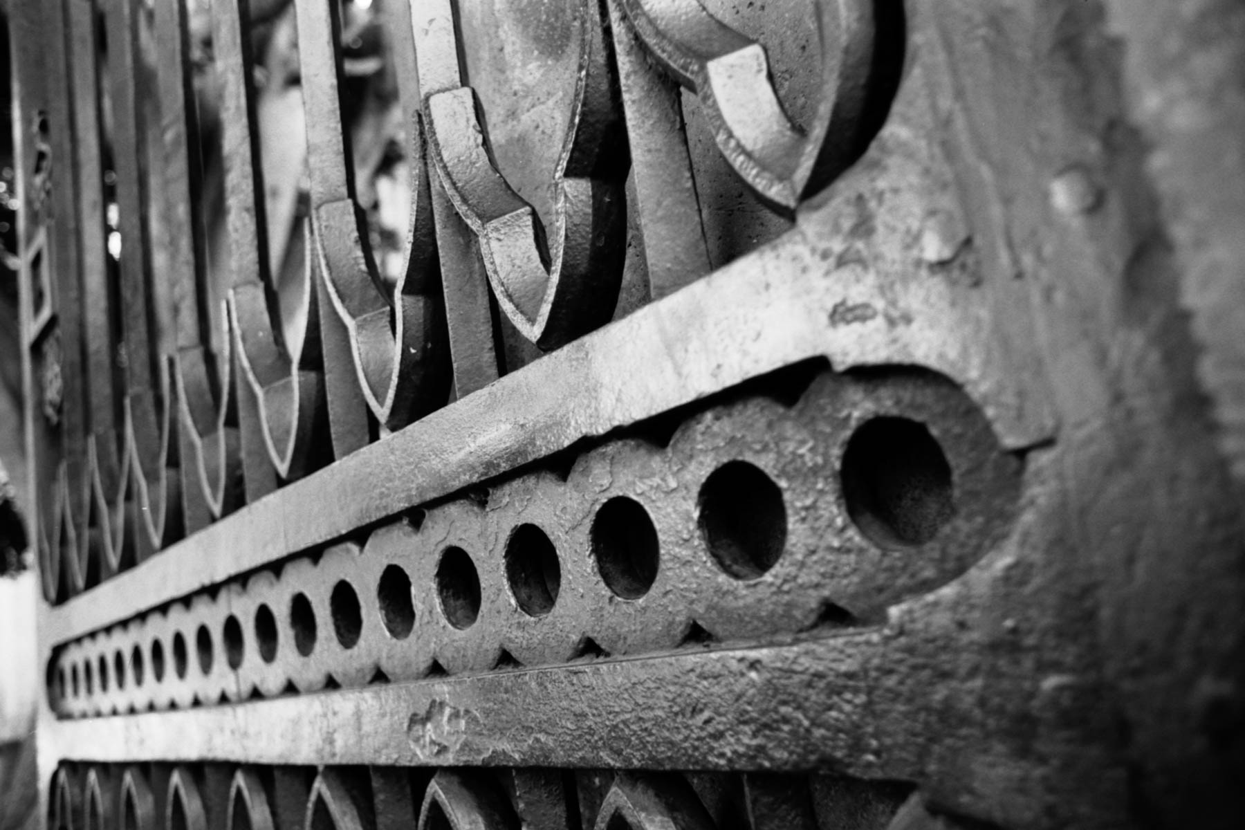
[[[717,564],[736,579],[757,579],[778,561],[787,545],[787,508],[782,490],[761,468],[727,462],[700,492],[700,529]]]

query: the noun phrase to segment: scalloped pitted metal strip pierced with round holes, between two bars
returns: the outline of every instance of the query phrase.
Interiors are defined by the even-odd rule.
[[[1021,472],[941,376],[797,366],[67,643],[49,694],[102,716],[870,625],[1000,541]]]

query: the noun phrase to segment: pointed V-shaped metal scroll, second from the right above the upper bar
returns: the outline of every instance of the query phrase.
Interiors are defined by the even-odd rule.
[[[579,12],[579,68],[554,172],[550,249],[532,205],[493,164],[476,92],[462,85],[452,0],[412,11],[430,161],[479,241],[498,305],[543,350],[609,321],[626,246],[627,157],[606,22],[595,0],[581,0]]]

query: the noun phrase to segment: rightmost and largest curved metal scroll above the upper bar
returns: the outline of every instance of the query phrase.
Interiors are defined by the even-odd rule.
[[[764,202],[789,214],[843,170],[873,62],[870,0],[817,0],[824,93],[807,129],[783,110],[764,47],[700,0],[620,2],[649,51],[700,98],[722,156]]]

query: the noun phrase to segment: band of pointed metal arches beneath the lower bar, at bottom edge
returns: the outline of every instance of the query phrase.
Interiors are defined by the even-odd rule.
[[[51,826],[105,830],[940,826],[903,785],[834,775],[66,764],[52,791]]]

